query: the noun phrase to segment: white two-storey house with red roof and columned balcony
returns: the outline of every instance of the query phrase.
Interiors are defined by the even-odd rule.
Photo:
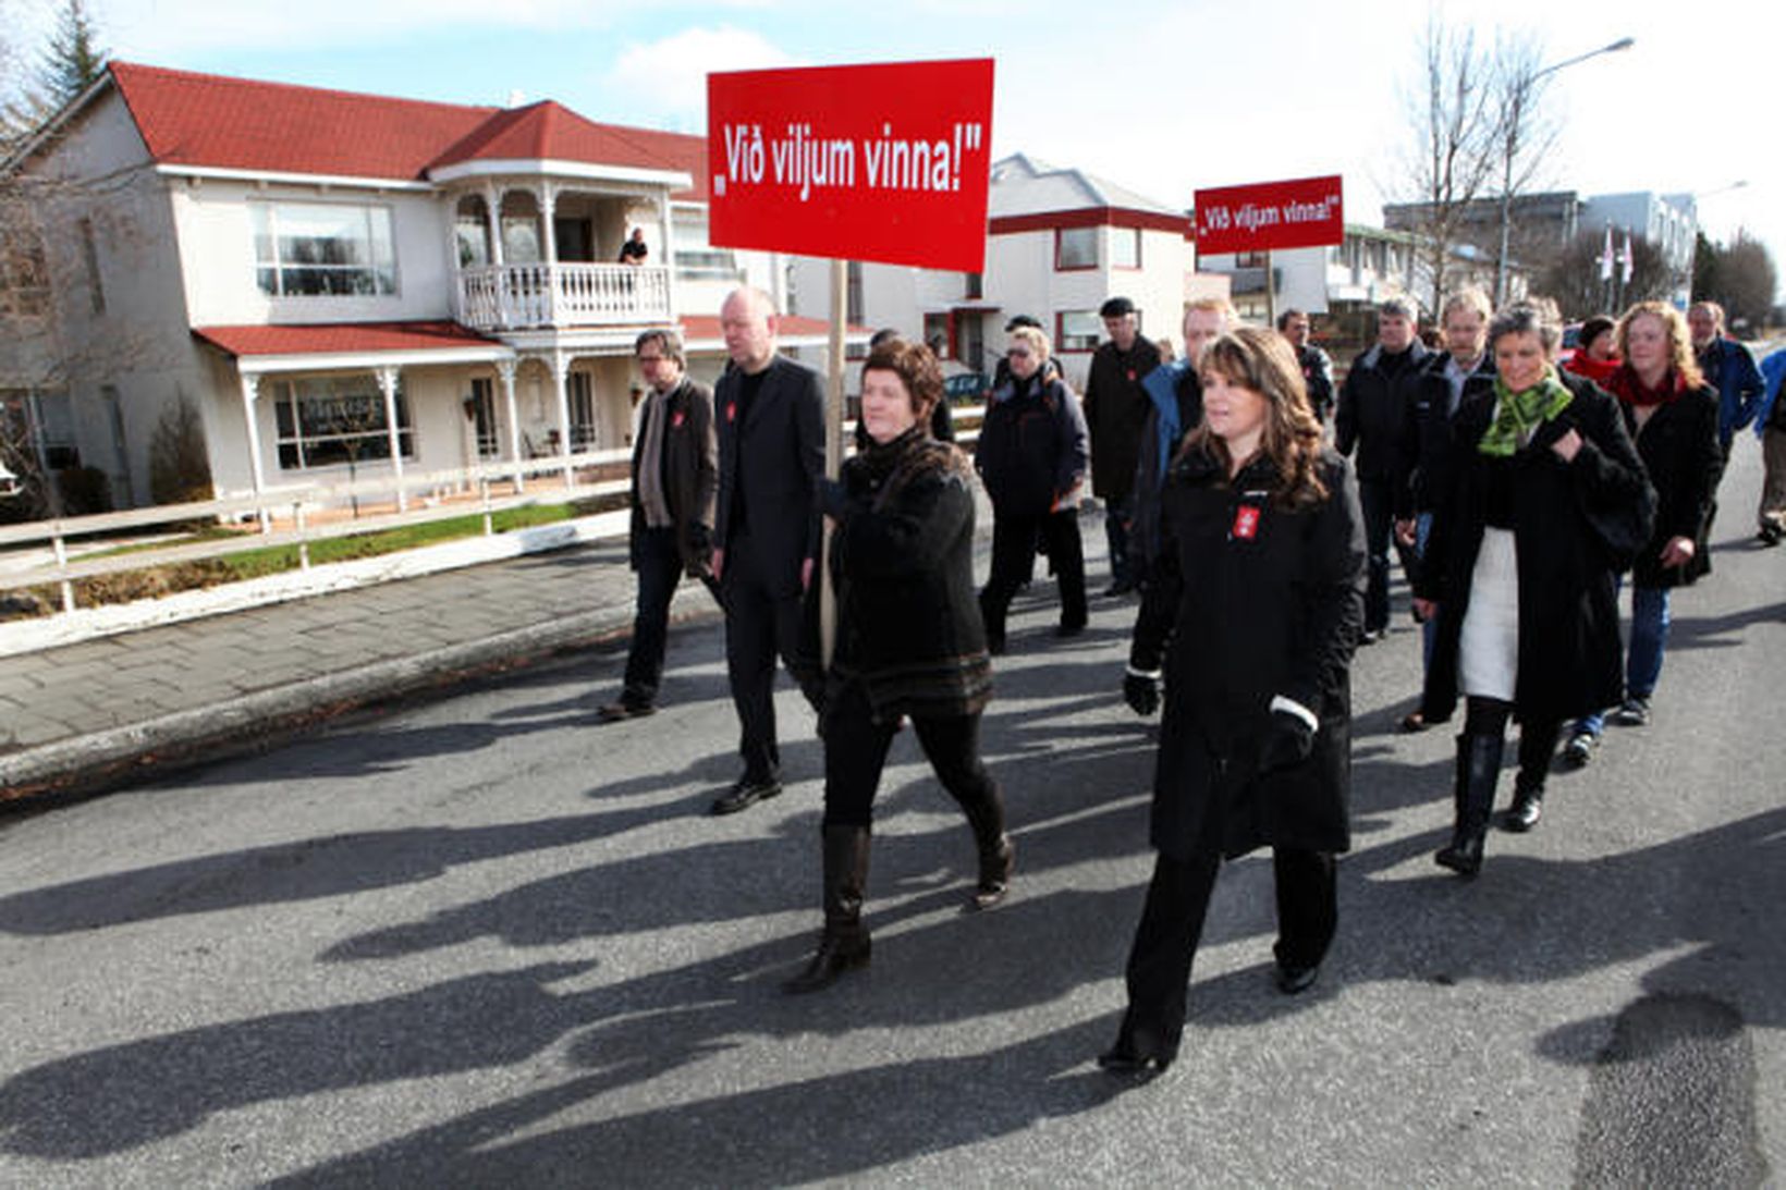
[[[775,257],[707,243],[702,138],[550,100],[113,63],[7,168],[36,239],[0,270],[0,393],[118,506],[148,502],[180,398],[220,495],[622,447],[641,331],[679,329],[711,379],[723,295],[780,289]],[[620,261],[634,227],[643,264]],[[782,343],[823,332],[784,320]]]

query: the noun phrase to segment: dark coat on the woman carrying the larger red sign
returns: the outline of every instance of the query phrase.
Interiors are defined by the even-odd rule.
[[[993,690],[973,593],[973,468],[922,427],[820,484],[836,520],[830,683],[859,679],[875,718],[970,715]]]

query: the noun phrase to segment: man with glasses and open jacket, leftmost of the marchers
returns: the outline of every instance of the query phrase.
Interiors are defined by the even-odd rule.
[[[620,699],[597,713],[604,724],[657,709],[670,599],[688,574],[720,599],[713,579],[713,506],[720,488],[720,440],[713,390],[682,370],[682,339],[647,331],[632,345],[648,391],[632,443],[630,563],[639,575],[632,649]]]

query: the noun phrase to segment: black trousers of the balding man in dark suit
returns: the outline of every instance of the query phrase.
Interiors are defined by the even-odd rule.
[[[795,670],[800,645],[800,593],[782,595],[752,556],[748,536],[725,550],[720,590],[725,595],[725,675],[738,711],[738,754],[745,779],[780,777],[775,742],[775,658]]]

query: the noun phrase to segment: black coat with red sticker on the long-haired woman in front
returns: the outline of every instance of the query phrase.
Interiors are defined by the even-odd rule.
[[[1347,851],[1352,649],[1365,622],[1365,527],[1347,463],[1320,463],[1327,499],[1270,499],[1279,475],[1256,459],[1229,482],[1200,450],[1166,481],[1166,543],[1147,588],[1129,663],[1159,668],[1166,700],[1150,840],[1184,859],[1214,799],[1227,800],[1222,852],[1261,845]],[[1316,715],[1306,761],[1261,774],[1272,699]]]

